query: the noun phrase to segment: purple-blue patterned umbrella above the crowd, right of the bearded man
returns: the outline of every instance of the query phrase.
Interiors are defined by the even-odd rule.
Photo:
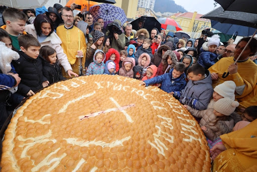
[[[96,22],[98,18],[102,18],[105,25],[117,19],[120,20],[122,26],[127,20],[124,10],[111,4],[95,5],[90,8],[89,13],[94,18],[93,22]]]

